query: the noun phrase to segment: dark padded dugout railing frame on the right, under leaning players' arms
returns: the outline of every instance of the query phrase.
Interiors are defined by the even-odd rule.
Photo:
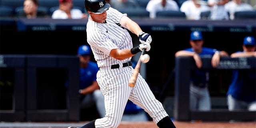
[[[212,109],[199,111],[189,109],[189,79],[190,70],[196,68],[193,58],[175,58],[175,92],[174,92],[174,119],[180,121],[205,120],[205,121],[228,121],[228,120],[256,120],[256,111],[228,109]],[[202,69],[213,69],[211,58],[202,58]],[[216,70],[249,69],[256,70],[256,58],[229,58],[220,59]],[[256,86],[256,85],[254,85]]]

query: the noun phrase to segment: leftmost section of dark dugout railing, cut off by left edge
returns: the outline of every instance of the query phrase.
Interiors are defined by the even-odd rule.
[[[25,120],[25,64],[24,55],[0,55],[0,121]]]

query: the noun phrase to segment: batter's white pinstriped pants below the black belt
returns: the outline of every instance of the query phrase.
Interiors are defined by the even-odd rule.
[[[168,116],[140,74],[134,88],[128,86],[133,70],[132,66],[117,69],[100,67],[97,82],[104,95],[106,116],[95,121],[96,128],[117,128],[128,99],[143,108],[156,124]]]

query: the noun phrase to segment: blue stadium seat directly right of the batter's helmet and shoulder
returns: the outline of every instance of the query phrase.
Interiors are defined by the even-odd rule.
[[[118,10],[121,13],[126,13],[128,17],[139,17],[139,18],[149,18],[149,12],[146,8],[122,8]]]

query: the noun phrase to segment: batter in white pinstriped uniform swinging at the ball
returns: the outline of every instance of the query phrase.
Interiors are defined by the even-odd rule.
[[[106,116],[81,128],[117,128],[128,100],[143,108],[159,128],[176,128],[140,74],[136,85],[128,86],[134,71],[131,58],[143,49],[150,50],[150,34],[104,0],[85,0],[84,6],[90,14],[86,25],[87,42],[99,67],[97,82],[104,95]],[[133,47],[128,30],[136,34],[142,44]]]

